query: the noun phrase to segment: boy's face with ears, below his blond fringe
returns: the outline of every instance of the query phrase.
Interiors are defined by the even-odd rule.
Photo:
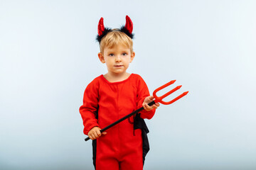
[[[106,63],[107,70],[112,74],[125,73],[135,56],[129,47],[124,45],[115,45],[114,47],[105,47],[103,54],[98,54],[100,61]]]

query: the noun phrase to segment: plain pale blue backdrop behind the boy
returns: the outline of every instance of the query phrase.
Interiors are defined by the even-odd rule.
[[[190,91],[147,120],[144,169],[256,169],[256,1],[0,1],[0,169],[93,169],[78,112],[107,69],[97,23],[134,23],[129,72]],[[174,87],[174,86],[172,86]],[[171,88],[170,88],[171,89]],[[168,98],[170,99],[170,98]]]

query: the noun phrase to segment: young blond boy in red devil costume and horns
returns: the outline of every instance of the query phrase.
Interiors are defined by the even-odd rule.
[[[147,105],[154,97],[149,96],[144,80],[138,74],[127,72],[135,52],[132,49],[132,21],[129,16],[126,20],[124,27],[111,30],[105,28],[103,18],[100,19],[98,57],[106,64],[108,72],[88,84],[80,107],[84,133],[93,140],[93,163],[97,170],[143,169],[144,157],[149,151],[146,137],[149,131],[143,119],[151,119],[159,106],[159,103]],[[100,133],[101,128],[142,106],[141,113]]]

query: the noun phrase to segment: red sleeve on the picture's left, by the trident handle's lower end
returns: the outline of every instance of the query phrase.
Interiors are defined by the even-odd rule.
[[[92,81],[85,89],[85,94],[83,97],[83,104],[79,108],[79,112],[82,116],[82,122],[84,125],[83,132],[85,135],[95,126],[99,126],[97,123],[97,108],[98,108],[98,98],[99,98],[99,84]]]

